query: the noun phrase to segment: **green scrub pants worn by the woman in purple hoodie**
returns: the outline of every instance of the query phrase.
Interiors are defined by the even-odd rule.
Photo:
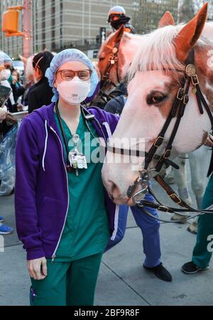
[[[48,260],[48,276],[31,279],[31,306],[92,306],[102,255],[73,262]]]

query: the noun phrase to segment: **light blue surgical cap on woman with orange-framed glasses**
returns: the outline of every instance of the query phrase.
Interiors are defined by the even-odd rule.
[[[94,94],[97,85],[99,83],[99,78],[97,76],[97,72],[94,70],[92,61],[89,60],[87,55],[82,53],[82,51],[77,49],[66,49],[55,55],[53,60],[50,63],[50,68],[48,68],[45,72],[45,77],[49,80],[50,87],[53,87],[53,99],[52,102],[56,102],[58,100],[58,91],[53,86],[53,83],[55,81],[55,73],[60,68],[61,65],[64,63],[67,63],[68,61],[80,61],[84,63],[84,65],[87,65],[87,67],[92,70],[91,75],[91,90],[89,91],[87,97],[92,97]]]

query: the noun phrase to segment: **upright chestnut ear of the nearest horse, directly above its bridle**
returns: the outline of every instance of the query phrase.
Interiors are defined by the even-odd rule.
[[[204,23],[207,20],[208,4],[205,3],[202,9],[192,20],[187,23],[182,30],[175,37],[175,49],[177,58],[181,62],[185,62],[190,49],[195,46],[197,40],[200,38]]]

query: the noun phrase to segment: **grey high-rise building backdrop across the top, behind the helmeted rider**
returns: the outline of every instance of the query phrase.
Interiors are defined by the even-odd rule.
[[[33,52],[45,48],[56,52],[63,48],[80,48],[87,53],[98,50],[100,28],[111,30],[107,16],[112,6],[124,6],[137,33],[147,33],[158,27],[165,11],[170,11],[178,21],[178,8],[182,1],[185,0],[33,0]],[[192,1],[197,11],[202,1]],[[23,5],[23,0],[0,1],[0,23],[8,6],[17,5]],[[212,6],[213,0],[209,0],[211,18]],[[22,15],[20,12],[20,30]],[[6,38],[0,32],[0,46],[0,50],[17,58],[23,52],[23,39]]]

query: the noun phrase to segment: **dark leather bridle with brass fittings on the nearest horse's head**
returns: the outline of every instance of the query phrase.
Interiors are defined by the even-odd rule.
[[[180,87],[178,89],[178,93],[176,95],[175,101],[173,102],[173,106],[170,110],[170,114],[168,115],[168,118],[165,121],[165,124],[163,125],[163,128],[160,131],[160,134],[158,134],[157,139],[155,139],[155,142],[151,146],[151,149],[148,152],[139,151],[139,150],[132,150],[132,149],[120,149],[116,148],[114,146],[107,146],[108,151],[111,151],[114,154],[121,154],[121,155],[128,155],[128,156],[143,156],[145,157],[145,166],[143,169],[139,171],[139,177],[134,182],[133,186],[129,187],[129,190],[127,191],[127,196],[129,198],[133,198],[133,203],[138,206],[139,208],[143,208],[143,212],[145,212],[147,215],[150,215],[152,218],[155,218],[151,213],[146,210],[145,207],[148,208],[155,208],[157,210],[160,210],[162,212],[166,213],[178,213],[179,215],[183,215],[185,219],[188,220],[190,218],[195,218],[197,215],[202,215],[204,213],[213,213],[213,210],[200,210],[195,209],[187,205],[185,201],[182,201],[182,199],[178,196],[177,193],[171,188],[168,183],[166,183],[163,178],[159,175],[160,170],[162,169],[163,165],[168,168],[168,166],[173,166],[175,169],[179,169],[179,167],[173,162],[170,161],[169,157],[171,154],[171,151],[173,149],[173,142],[175,139],[175,136],[178,132],[178,128],[180,127],[180,122],[182,117],[185,114],[185,108],[187,107],[187,103],[189,102],[189,90],[190,85],[192,85],[192,90],[196,95],[197,98],[197,105],[200,110],[200,114],[204,113],[204,109],[207,111],[207,114],[209,116],[210,122],[212,124],[213,128],[213,116],[212,112],[209,109],[209,105],[207,104],[202,91],[200,89],[200,83],[199,79],[196,73],[196,67],[195,67],[195,49],[192,48],[190,51],[187,59],[185,60],[185,70],[178,70],[182,73],[184,73],[182,80],[180,81]],[[158,148],[163,144],[165,139],[165,133],[168,130],[168,127],[170,125],[170,122],[173,118],[176,117],[175,125],[173,127],[173,131],[170,134],[170,138],[168,140],[168,144],[165,147],[165,151],[163,151],[163,154],[158,154]],[[157,161],[157,164],[154,169],[149,170],[148,166],[151,163],[151,161]],[[173,208],[168,206],[163,206],[160,201],[155,197],[153,191],[151,190],[151,187],[149,186],[149,181],[151,180],[151,171],[155,171],[158,174],[154,177],[155,181],[157,181],[161,187],[164,188],[165,192],[168,194],[170,199],[178,204],[178,206],[182,208]],[[142,186],[141,191],[138,191],[136,194],[133,194],[136,186],[140,184]],[[151,195],[155,198],[157,201],[156,203],[151,203],[149,201],[146,201],[144,197],[146,196],[146,193],[151,193]],[[194,213],[187,214],[185,212]],[[158,219],[157,220],[163,221],[163,222],[170,222],[168,220]]]

